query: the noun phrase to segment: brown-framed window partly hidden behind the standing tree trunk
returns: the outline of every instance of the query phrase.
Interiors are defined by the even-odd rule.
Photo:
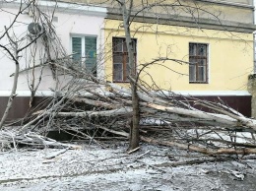
[[[125,38],[113,37],[113,82],[128,82],[130,68]],[[136,60],[136,39],[132,39],[134,59]]]

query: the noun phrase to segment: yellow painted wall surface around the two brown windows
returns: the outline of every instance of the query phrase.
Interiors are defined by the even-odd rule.
[[[105,21],[105,74],[112,81],[112,37],[124,37],[121,23]],[[189,84],[188,64],[166,61],[164,66],[147,69],[161,89],[171,91],[246,91],[247,77],[253,70],[253,35],[251,33],[200,30],[173,26],[133,23],[131,32],[137,38],[137,64],[168,56],[188,62],[189,42],[209,44],[209,83]],[[182,74],[178,74],[182,73]],[[152,84],[146,72],[141,79]]]

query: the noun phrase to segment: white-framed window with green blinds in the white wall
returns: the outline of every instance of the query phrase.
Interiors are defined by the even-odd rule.
[[[96,76],[96,36],[72,37],[73,60]]]

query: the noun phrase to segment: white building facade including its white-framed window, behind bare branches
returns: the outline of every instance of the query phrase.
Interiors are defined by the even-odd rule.
[[[0,5],[1,9],[4,10],[0,12],[0,35],[4,33],[5,26],[8,28],[12,25],[19,10],[24,9],[23,13],[18,16],[12,30],[10,30],[10,35],[19,36],[19,39],[23,39],[23,44],[19,44],[20,47],[29,44],[33,37],[29,26],[34,23],[42,26],[44,22],[40,20],[34,21],[36,17],[33,15],[34,12],[30,10],[32,9],[32,5],[26,8],[28,2],[24,1],[22,4],[20,1],[10,3],[3,2]],[[57,36],[49,40],[54,42],[56,38],[58,38],[58,41],[63,47],[63,55],[71,55],[74,60],[83,57],[84,64],[87,65],[87,67],[91,67],[93,70],[93,63],[96,60],[97,51],[100,51],[99,47],[101,47],[104,40],[104,33],[101,29],[103,28],[106,9],[63,2],[56,4],[52,1],[36,1],[36,6],[39,7],[47,18],[52,19],[52,26],[54,26]],[[31,109],[30,99],[32,96],[32,86],[38,86],[34,93],[34,103],[31,105],[32,107],[36,107],[38,103],[41,103],[42,97],[53,95],[51,89],[54,90],[56,86],[64,86],[64,82],[70,80],[68,76],[63,75],[62,78],[57,81],[54,79],[52,70],[48,66],[43,66],[44,62],[47,61],[42,59],[43,54],[45,54],[42,43],[41,39],[38,38],[29,48],[25,48],[24,51],[19,53],[21,72],[18,79],[17,95],[9,112],[8,119],[23,118],[29,109]],[[0,39],[0,44],[11,48],[7,35]],[[35,51],[37,53],[34,53]],[[29,60],[33,53],[34,59]],[[57,56],[57,53],[58,52],[50,52],[53,60]],[[86,54],[90,54],[90,56],[87,57]],[[12,74],[15,72],[15,63],[3,48],[0,50],[0,58],[1,117],[5,111],[8,98],[13,88],[14,76]],[[32,67],[34,67],[33,70],[27,70]],[[102,71],[100,68],[96,68],[95,73],[97,70]],[[100,72],[98,72],[97,75],[100,76]]]

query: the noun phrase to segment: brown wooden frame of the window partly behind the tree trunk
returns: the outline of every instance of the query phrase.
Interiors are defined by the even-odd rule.
[[[116,42],[117,40],[121,40],[122,41],[122,50],[118,51],[115,50],[117,49],[116,47],[118,47],[118,42]],[[132,38],[132,41],[134,43],[134,60],[135,60],[135,70],[137,68],[137,39],[136,38]],[[116,80],[115,78],[115,65],[118,65],[120,63],[114,62],[115,60],[115,56],[121,56],[121,60],[122,60],[122,73],[121,75],[119,74],[119,76],[121,76],[121,80]],[[118,37],[118,36],[113,36],[112,37],[112,81],[114,83],[129,83],[129,79],[127,78],[127,67],[128,67],[128,51],[127,51],[127,46],[126,46],[126,38],[125,37]],[[117,74],[118,76],[118,74]]]

